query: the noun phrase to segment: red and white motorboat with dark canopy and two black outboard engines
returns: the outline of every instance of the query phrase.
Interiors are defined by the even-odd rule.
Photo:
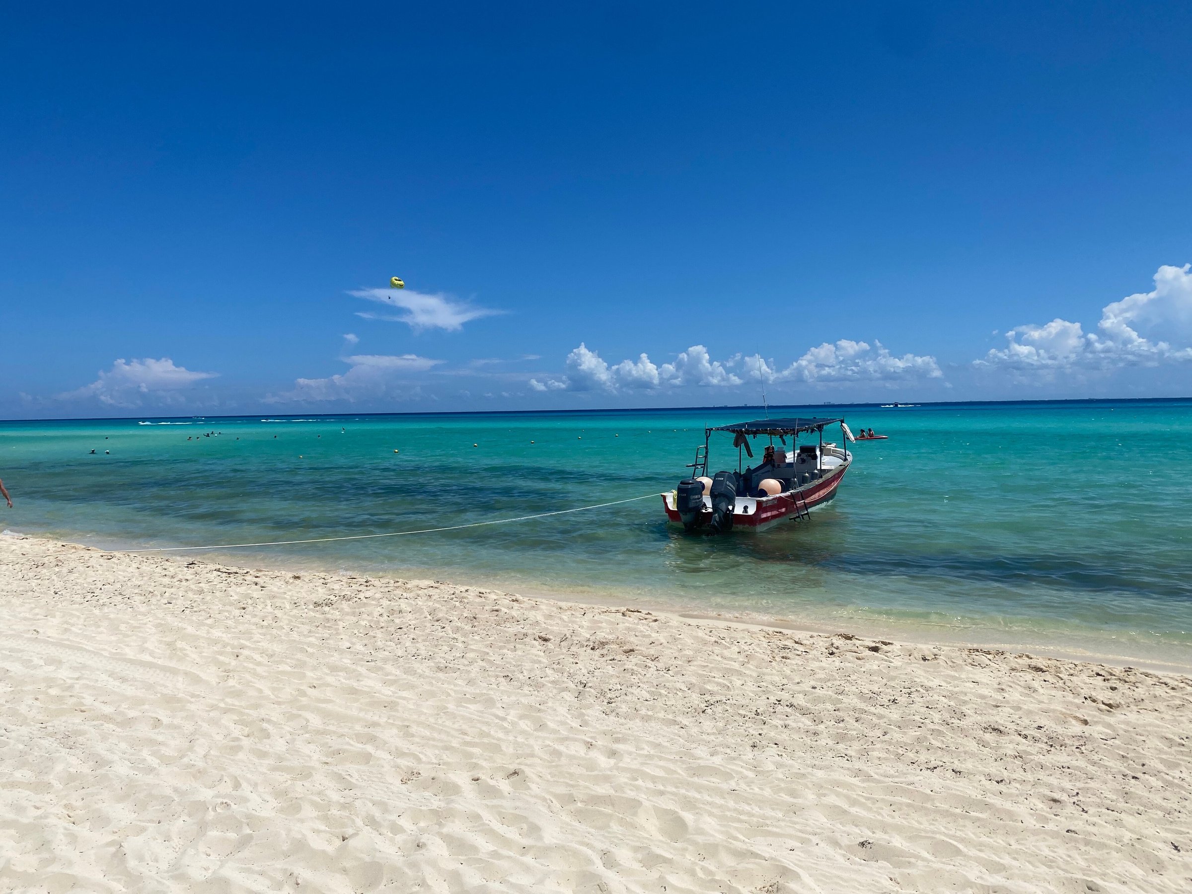
[[[807,519],[817,507],[836,496],[852,454],[824,441],[827,426],[840,426],[840,442],[855,440],[843,418],[755,420],[703,430],[703,445],[688,468],[691,477],[663,493],[666,517],[685,530],[703,529],[722,534],[732,529],[763,530],[782,521]],[[708,443],[713,432],[733,435],[737,471],[708,474]],[[814,443],[799,443],[799,435],[814,434]],[[766,437],[762,461],[744,466],[745,454],[753,459],[758,437]],[[789,451],[787,437],[790,439]],[[778,439],[778,445],[775,445]]]

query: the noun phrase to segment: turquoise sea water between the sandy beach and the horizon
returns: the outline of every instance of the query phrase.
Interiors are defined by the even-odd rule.
[[[684,535],[653,497],[206,555],[1192,664],[1192,403],[840,411],[890,439],[852,446],[839,497],[811,522],[762,534]],[[0,423],[0,477],[17,504],[0,524],[132,547],[520,516],[670,490],[704,424],[758,415]],[[713,439],[712,467],[735,467],[731,437]]]

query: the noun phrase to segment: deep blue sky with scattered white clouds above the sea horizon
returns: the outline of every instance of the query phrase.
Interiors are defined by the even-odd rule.
[[[1192,7],[1039,6],[12,7],[0,417],[1187,396]]]

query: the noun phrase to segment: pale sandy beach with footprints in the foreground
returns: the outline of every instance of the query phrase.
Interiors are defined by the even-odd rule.
[[[1187,892],[1192,679],[0,538],[0,890]]]

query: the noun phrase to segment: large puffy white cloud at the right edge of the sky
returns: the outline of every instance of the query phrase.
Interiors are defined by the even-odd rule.
[[[1154,366],[1192,360],[1192,348],[1174,348],[1166,339],[1192,341],[1192,265],[1165,265],[1155,287],[1101,309],[1098,331],[1058,317],[1050,323],[1026,323],[1006,333],[1006,347],[992,349],[979,368],[1018,372],[1111,371],[1123,366]]]

